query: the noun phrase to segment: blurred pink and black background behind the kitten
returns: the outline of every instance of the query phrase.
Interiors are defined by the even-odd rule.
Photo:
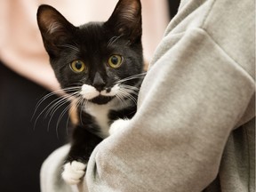
[[[0,191],[40,191],[41,164],[68,141],[68,114],[60,119],[68,104],[52,116],[45,116],[44,109],[60,100],[59,95],[53,94],[36,109],[45,95],[60,89],[37,28],[37,7],[50,4],[78,26],[108,20],[116,3],[117,0],[0,0]],[[141,0],[141,4],[142,43],[149,63],[180,0]]]

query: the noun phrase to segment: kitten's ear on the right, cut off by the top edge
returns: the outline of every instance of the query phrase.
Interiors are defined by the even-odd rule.
[[[119,0],[105,25],[113,30],[116,36],[127,37],[131,44],[140,42],[142,35],[140,0]]]

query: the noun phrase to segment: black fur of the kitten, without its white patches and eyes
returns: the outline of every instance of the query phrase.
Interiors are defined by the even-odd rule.
[[[120,0],[108,21],[91,22],[80,27],[73,26],[51,6],[41,5],[37,12],[37,22],[45,50],[63,90],[90,84],[99,91],[110,91],[116,79],[122,80],[143,72],[140,0]],[[108,66],[108,58],[113,54],[124,58],[120,68]],[[74,73],[70,69],[73,60],[83,60],[88,69],[82,73]],[[133,78],[122,84],[140,88],[141,78]],[[109,111],[109,125],[118,118],[131,118],[135,114],[138,91],[132,92],[132,98],[124,98],[124,102],[132,100],[131,106]],[[72,94],[75,91],[66,92]],[[114,96],[98,96],[87,101],[104,105],[114,99]],[[86,163],[93,148],[102,140],[98,136],[100,125],[95,117],[86,112],[86,108],[82,110],[82,104],[84,102],[77,107],[81,111],[77,116],[81,119],[73,132],[68,162],[79,160]]]

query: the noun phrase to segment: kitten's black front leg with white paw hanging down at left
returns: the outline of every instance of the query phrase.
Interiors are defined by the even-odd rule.
[[[62,179],[70,185],[79,183],[85,173],[92,150],[102,139],[81,126],[76,126],[66,163],[63,166]]]

